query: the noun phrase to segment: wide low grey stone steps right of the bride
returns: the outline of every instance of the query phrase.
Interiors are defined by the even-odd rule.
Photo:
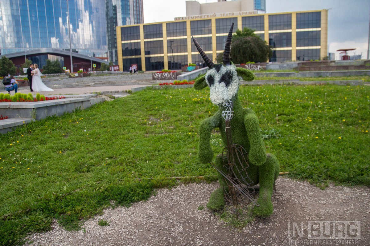
[[[155,81],[151,73],[119,74],[119,75],[92,75],[83,78],[69,78],[66,75],[46,77],[43,79],[46,86],[58,88],[89,87],[89,86],[127,86],[127,85],[151,85],[161,82],[173,82],[173,80]]]

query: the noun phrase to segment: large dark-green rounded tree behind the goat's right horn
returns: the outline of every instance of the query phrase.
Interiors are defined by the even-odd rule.
[[[238,29],[232,35],[230,57],[233,63],[266,62],[272,56],[270,46],[254,34],[254,31],[245,27],[243,31]],[[221,63],[222,59],[223,52],[217,55],[216,61]]]

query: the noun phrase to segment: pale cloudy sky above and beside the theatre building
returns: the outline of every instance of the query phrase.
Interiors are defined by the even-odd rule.
[[[199,3],[213,3],[217,0],[198,0]],[[172,21],[186,15],[185,0],[143,0],[144,23]],[[329,52],[337,49],[356,48],[349,54],[367,56],[369,36],[369,0],[266,0],[266,12],[321,10],[328,12]]]

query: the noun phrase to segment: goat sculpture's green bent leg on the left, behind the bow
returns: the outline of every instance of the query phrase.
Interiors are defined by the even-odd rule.
[[[223,166],[224,162],[222,159],[222,155],[216,156],[215,165],[226,173],[226,169]],[[223,194],[223,189],[224,186],[227,186],[227,184],[221,173],[217,172],[217,175],[220,187],[212,192],[211,197],[209,198],[209,201],[207,203],[207,208],[212,211],[221,210],[223,207],[225,207],[225,196]]]

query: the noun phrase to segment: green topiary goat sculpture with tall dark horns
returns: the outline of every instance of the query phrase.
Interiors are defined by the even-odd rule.
[[[213,64],[212,60],[205,54],[201,46],[194,37],[193,41],[201,54],[208,72],[195,81],[194,88],[201,90],[209,86],[210,99],[213,104],[218,105],[219,110],[211,117],[204,119],[199,127],[199,152],[198,158],[202,163],[210,163],[213,159],[211,148],[211,132],[214,128],[219,128],[223,144],[227,145],[225,119],[223,111],[226,105],[232,104],[233,116],[230,120],[231,137],[234,144],[242,146],[248,153],[248,176],[253,182],[252,185],[259,183],[259,206],[254,207],[256,215],[270,216],[273,213],[272,192],[275,180],[279,175],[279,163],[272,154],[266,154],[265,144],[260,133],[257,116],[250,108],[243,108],[238,97],[239,81],[252,81],[254,75],[247,69],[236,67],[230,61],[231,36],[234,23],[231,25],[228,38],[226,40],[223,63]],[[215,167],[224,170],[227,160],[218,155],[215,160]],[[223,187],[227,186],[226,180],[219,173],[220,187],[213,191],[207,207],[211,210],[222,209],[225,206],[225,194]],[[241,184],[242,185],[242,184]],[[248,185],[248,184],[246,184]]]

